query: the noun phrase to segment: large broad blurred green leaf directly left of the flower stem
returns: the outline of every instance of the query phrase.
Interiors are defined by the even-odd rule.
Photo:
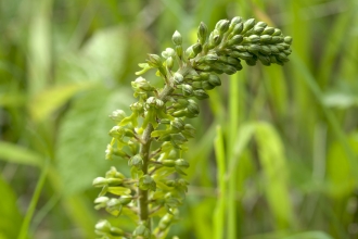
[[[132,98],[125,89],[111,91],[99,85],[77,98],[64,116],[55,158],[67,193],[91,188],[93,178],[104,175],[113,165],[105,161],[104,153],[113,126],[107,115],[117,109],[129,109]],[[116,164],[126,167],[124,161]]]

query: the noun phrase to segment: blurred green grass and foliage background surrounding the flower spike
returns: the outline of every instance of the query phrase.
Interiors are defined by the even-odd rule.
[[[201,103],[180,238],[358,238],[356,0],[0,2],[0,239],[95,238],[112,111],[146,53],[201,21],[255,17],[291,35],[283,67],[246,66]],[[150,80],[158,80],[154,73]],[[131,230],[127,217],[111,221]]]

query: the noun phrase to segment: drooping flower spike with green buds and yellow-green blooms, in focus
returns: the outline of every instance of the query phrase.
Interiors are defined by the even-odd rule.
[[[107,238],[165,238],[172,223],[179,218],[178,207],[188,191],[184,169],[189,162],[182,159],[187,142],[195,136],[195,128],[187,123],[196,117],[200,108],[195,100],[208,98],[207,90],[221,85],[220,74],[242,70],[241,61],[255,65],[282,65],[291,53],[291,37],[280,29],[255,20],[234,17],[221,20],[208,34],[201,23],[197,42],[187,50],[178,32],[172,35],[174,48],[162,56],[149,54],[146,63],[139,64],[142,75],[156,70],[164,88],[156,88],[143,77],[131,83],[137,102],[131,114],[116,110],[110,117],[116,125],[105,150],[107,160],[124,160],[130,167],[130,177],[112,167],[105,177],[98,177],[93,186],[102,188],[94,200],[95,209],[104,209],[114,216],[138,215],[131,232],[101,221],[95,232]],[[161,217],[153,225],[152,217]]]

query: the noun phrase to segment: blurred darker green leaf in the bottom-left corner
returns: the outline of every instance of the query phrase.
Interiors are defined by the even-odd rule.
[[[11,187],[0,176],[0,238],[17,238],[18,228],[22,224],[22,216],[16,206],[17,197]]]

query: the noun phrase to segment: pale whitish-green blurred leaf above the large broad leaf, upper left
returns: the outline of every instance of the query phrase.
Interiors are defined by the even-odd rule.
[[[128,59],[126,27],[107,27],[94,32],[84,47],[63,53],[57,63],[55,81],[103,81],[113,85],[126,71]]]

